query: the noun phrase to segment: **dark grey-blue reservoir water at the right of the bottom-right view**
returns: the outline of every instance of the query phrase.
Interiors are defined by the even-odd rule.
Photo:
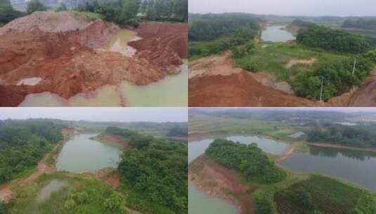
[[[376,190],[376,153],[311,146],[292,153],[281,165],[294,172],[320,172]]]

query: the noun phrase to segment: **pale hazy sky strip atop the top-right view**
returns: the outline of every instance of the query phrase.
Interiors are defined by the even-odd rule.
[[[189,0],[190,13],[376,16],[376,0]]]

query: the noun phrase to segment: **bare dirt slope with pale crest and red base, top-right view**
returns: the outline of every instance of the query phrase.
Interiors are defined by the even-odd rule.
[[[268,87],[253,75],[240,68],[233,68],[228,53],[190,63],[189,106],[318,105],[314,101]]]

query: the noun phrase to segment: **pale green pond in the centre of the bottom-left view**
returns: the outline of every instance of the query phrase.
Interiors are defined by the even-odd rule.
[[[63,146],[56,160],[58,171],[95,172],[116,168],[121,160],[122,146],[103,144],[91,139],[97,134],[77,134]]]

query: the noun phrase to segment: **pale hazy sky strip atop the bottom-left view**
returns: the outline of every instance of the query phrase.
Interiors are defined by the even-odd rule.
[[[187,122],[187,108],[0,108],[0,120],[55,118],[117,122]]]

